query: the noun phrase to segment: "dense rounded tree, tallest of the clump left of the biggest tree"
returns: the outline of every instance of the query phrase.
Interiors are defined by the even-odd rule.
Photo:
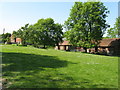
[[[40,19],[30,28],[34,45],[53,46],[62,41],[62,25],[55,24],[52,18]]]

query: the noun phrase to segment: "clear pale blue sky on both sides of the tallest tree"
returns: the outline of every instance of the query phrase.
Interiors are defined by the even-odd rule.
[[[113,27],[118,17],[118,2],[103,2],[110,11],[107,23]],[[34,24],[41,18],[53,18],[55,23],[64,24],[69,17],[70,9],[74,2],[0,2],[0,34],[5,32],[12,33],[25,24]]]

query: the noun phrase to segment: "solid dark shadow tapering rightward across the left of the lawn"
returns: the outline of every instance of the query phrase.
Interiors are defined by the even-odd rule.
[[[2,53],[3,72],[43,70],[43,68],[60,68],[67,66],[67,61],[54,56],[24,53]]]

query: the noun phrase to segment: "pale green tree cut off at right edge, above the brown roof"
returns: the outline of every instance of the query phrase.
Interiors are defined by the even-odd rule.
[[[113,28],[110,28],[107,31],[107,37],[109,38],[118,38],[120,37],[120,16],[116,18],[116,22]]]

